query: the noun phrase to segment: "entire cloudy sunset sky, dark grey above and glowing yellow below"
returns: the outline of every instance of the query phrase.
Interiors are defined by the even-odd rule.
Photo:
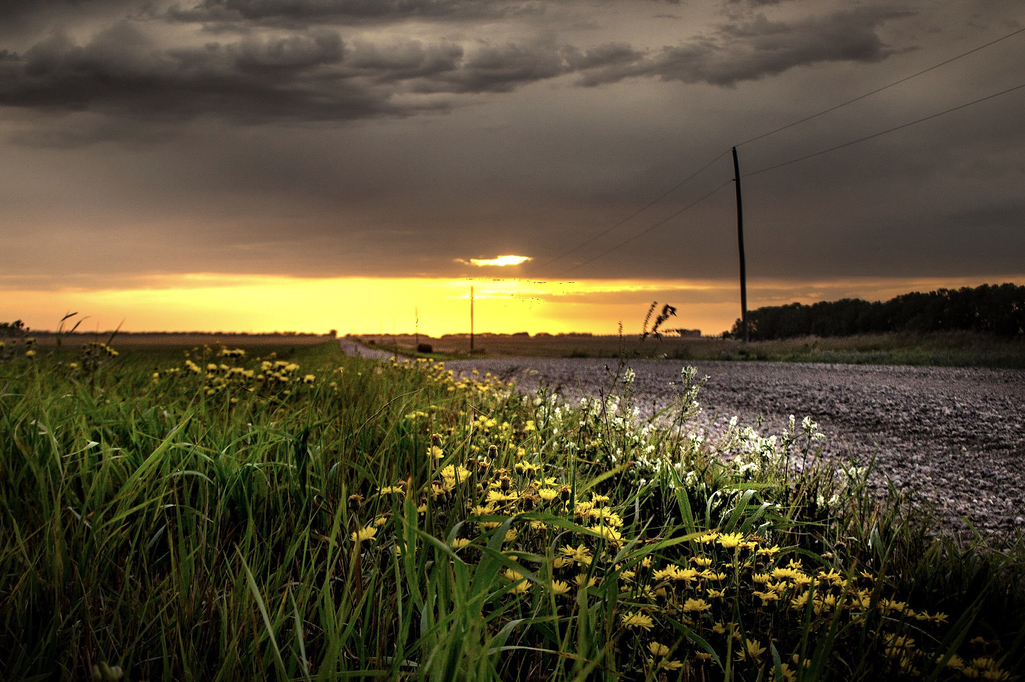
[[[478,332],[657,300],[713,334],[733,145],[749,307],[1022,284],[1025,33],[761,137],[1021,29],[1018,0],[0,0],[0,319],[438,335],[473,285]]]

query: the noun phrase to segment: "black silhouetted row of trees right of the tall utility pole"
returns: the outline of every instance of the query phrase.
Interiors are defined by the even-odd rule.
[[[889,301],[860,298],[789,303],[747,313],[752,341],[797,336],[852,336],[887,332],[972,331],[1025,336],[1025,286],[1011,283],[911,292]],[[742,338],[740,319],[729,333]]]

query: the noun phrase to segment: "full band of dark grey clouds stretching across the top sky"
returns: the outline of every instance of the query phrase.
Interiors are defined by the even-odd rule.
[[[177,20],[244,25],[252,18],[467,16],[499,9],[509,6],[463,0],[207,0],[170,14]],[[458,105],[458,95],[510,92],[567,74],[578,74],[578,83],[588,86],[637,77],[729,86],[822,61],[877,61],[892,49],[876,29],[906,15],[857,9],[790,22],[757,16],[657,49],[626,42],[581,49],[550,37],[346,41],[328,26],[200,42],[202,31],[158,38],[159,24],[122,19],[84,43],[55,31],[23,52],[0,51],[0,106],[92,111],[165,125],[201,115],[247,123],[337,122],[449,111]]]

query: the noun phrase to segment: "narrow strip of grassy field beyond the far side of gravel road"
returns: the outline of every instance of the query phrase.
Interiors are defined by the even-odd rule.
[[[363,336],[364,343],[412,354],[409,336]],[[422,339],[437,359],[469,357],[469,339]],[[476,340],[474,356],[487,357],[667,357],[680,360],[769,360],[850,365],[934,365],[949,367],[1025,368],[1025,341],[971,332],[870,334],[852,337],[806,337],[743,344],[735,339],[617,336],[485,335]]]

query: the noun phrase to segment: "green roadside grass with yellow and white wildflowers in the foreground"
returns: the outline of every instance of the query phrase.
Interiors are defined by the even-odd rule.
[[[810,421],[692,431],[439,363],[7,346],[0,677],[1013,679],[1020,546],[933,539]],[[242,351],[245,352],[242,352]]]

